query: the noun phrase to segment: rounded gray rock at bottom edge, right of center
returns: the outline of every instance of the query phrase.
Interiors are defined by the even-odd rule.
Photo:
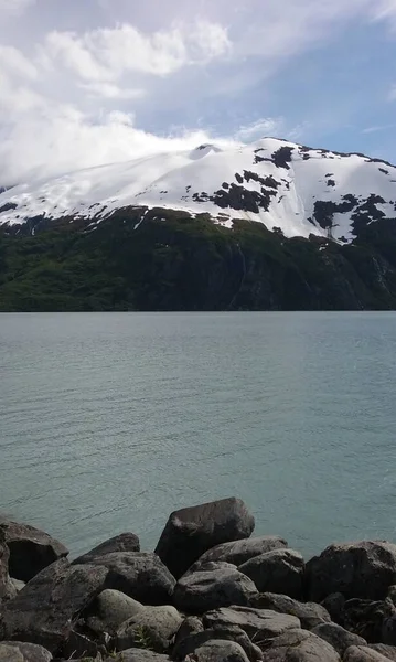
[[[266,662],[340,662],[330,643],[307,630],[289,630],[266,649]]]

